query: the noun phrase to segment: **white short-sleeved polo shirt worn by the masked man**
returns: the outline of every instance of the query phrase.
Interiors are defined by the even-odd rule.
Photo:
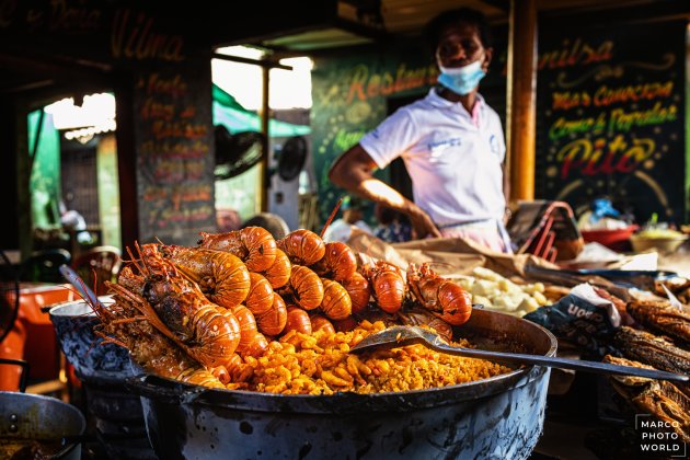
[[[402,157],[414,203],[439,227],[487,219],[505,211],[506,146],[501,118],[478,94],[479,126],[462,104],[432,89],[399,108],[359,143],[379,168]]]

